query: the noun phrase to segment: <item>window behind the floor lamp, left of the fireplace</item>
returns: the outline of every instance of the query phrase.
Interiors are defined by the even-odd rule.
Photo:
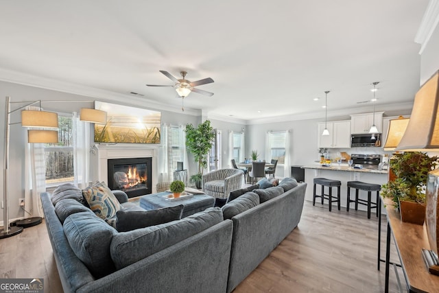
[[[73,182],[72,117],[58,115],[58,144],[45,145],[46,185]]]

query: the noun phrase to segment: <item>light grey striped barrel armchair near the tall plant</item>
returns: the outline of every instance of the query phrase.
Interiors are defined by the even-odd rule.
[[[213,198],[228,198],[230,191],[241,189],[243,181],[241,169],[219,169],[203,175],[203,191]]]

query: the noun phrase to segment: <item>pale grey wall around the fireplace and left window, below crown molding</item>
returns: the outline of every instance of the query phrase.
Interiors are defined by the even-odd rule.
[[[100,100],[105,102],[112,102],[115,104],[125,104],[127,106],[137,106],[139,108],[148,108],[148,104],[142,102],[139,99],[127,99],[127,100],[109,100],[103,98],[86,97],[82,95],[74,95],[71,93],[62,93],[59,91],[51,91],[48,89],[39,89],[33,86],[24,86],[21,84],[12,84],[9,82],[0,82],[0,132],[3,137],[4,126],[5,126],[5,97],[10,96],[11,102],[19,101],[49,101],[49,100],[73,100],[75,102],[56,102],[56,103],[43,103],[43,108],[45,110],[72,113],[74,111],[79,112],[80,108],[93,108],[93,102],[80,102],[81,100]],[[24,106],[25,104],[12,104],[11,110]],[[150,107],[151,110],[160,110]],[[187,115],[185,113],[174,113],[166,110],[160,110],[162,113],[162,123],[174,124],[174,125],[185,125],[193,124],[198,125],[201,118],[197,115]],[[22,128],[19,123],[21,121],[20,111],[16,111],[11,115],[10,126],[10,167],[8,169],[9,174],[9,218],[10,220],[21,218],[24,212],[19,207],[19,198],[24,198],[24,177],[25,177],[25,147],[27,147],[27,132],[26,128]],[[92,127],[92,126],[91,126]],[[93,133],[93,131],[92,131]],[[0,153],[1,153],[1,169],[0,169],[0,201],[3,201],[3,141],[1,139]],[[93,141],[93,138],[91,139]],[[159,152],[161,148],[159,148]],[[160,162],[158,162],[160,164]],[[193,161],[193,156],[189,154],[189,171],[193,170],[196,172],[197,166],[195,161]],[[91,166],[91,174],[94,176],[91,180],[97,180],[97,171],[93,166]],[[3,211],[0,209],[0,222],[3,220]]]

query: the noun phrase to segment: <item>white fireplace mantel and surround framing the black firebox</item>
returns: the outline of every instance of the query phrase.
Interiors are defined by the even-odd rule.
[[[147,145],[94,145],[98,161],[98,178],[108,184],[108,159],[152,158],[152,193],[157,185],[158,148]]]

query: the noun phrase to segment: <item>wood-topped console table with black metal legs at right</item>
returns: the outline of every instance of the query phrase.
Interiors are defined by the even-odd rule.
[[[439,276],[429,274],[421,252],[422,248],[429,249],[430,247],[425,224],[420,226],[402,222],[392,201],[389,198],[381,198],[381,201],[385,204],[388,222],[385,245],[385,292],[389,292],[390,237],[393,237],[396,244],[396,252],[401,261],[407,291],[438,292]]]

